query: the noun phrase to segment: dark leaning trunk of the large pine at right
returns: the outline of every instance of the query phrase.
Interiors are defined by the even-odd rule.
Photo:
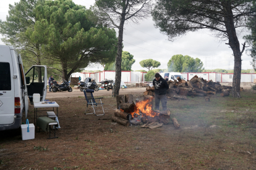
[[[231,10],[231,4],[229,2],[222,2],[224,10],[228,12],[227,17],[224,18],[226,32],[228,34],[229,46],[231,47],[234,54],[234,75],[233,75],[233,87],[232,95],[234,98],[240,98],[240,83],[241,83],[241,51],[240,44],[236,34],[236,28],[234,26],[233,12]]]

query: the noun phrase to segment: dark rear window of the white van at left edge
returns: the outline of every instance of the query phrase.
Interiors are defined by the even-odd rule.
[[[0,91],[11,91],[10,63],[0,62]]]

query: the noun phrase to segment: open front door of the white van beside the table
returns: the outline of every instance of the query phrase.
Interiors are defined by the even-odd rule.
[[[46,65],[33,65],[25,73],[28,99],[33,102],[33,94],[40,94],[40,101],[45,100],[47,92],[47,68]]]

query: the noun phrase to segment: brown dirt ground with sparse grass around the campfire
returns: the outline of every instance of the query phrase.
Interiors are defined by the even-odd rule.
[[[124,92],[142,99],[142,92]],[[22,140],[19,131],[0,132],[0,169],[256,169],[255,95],[168,100],[179,129],[114,124],[110,95],[103,99],[104,116],[84,115],[82,95],[51,98],[60,106],[59,138],[36,132],[35,139]],[[32,105],[28,119],[33,123]]]

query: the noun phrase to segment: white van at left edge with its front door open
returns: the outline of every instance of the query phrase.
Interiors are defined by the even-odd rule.
[[[36,65],[25,73],[14,47],[0,45],[0,131],[19,128],[23,112],[27,118],[28,99],[39,93],[45,100],[46,86],[46,66]]]

